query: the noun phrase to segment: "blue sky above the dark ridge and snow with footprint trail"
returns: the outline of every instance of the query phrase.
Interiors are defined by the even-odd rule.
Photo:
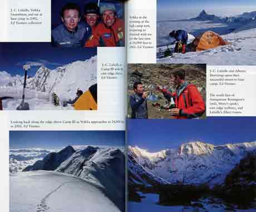
[[[9,148],[58,148],[67,145],[124,147],[124,131],[10,131]]]

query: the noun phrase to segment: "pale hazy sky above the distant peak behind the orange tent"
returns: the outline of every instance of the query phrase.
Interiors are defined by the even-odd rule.
[[[205,9],[216,16],[234,16],[256,11],[255,0],[157,0],[157,21],[166,19],[188,19],[196,17]]]

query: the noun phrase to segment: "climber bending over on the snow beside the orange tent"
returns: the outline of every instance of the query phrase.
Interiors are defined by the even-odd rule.
[[[174,52],[175,53],[186,53],[186,44],[188,42],[188,32],[179,29],[177,31],[172,31],[169,34],[170,37],[175,38],[176,40],[176,45],[175,45],[175,49]]]

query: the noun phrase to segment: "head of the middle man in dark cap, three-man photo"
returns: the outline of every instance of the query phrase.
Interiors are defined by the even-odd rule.
[[[100,17],[100,8],[96,3],[88,3],[85,5],[85,10],[83,13],[83,18],[85,18],[85,22],[88,26],[91,27],[91,32],[96,28]]]

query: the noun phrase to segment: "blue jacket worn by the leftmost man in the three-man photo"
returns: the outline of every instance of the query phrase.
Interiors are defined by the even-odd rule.
[[[91,34],[91,27],[87,23],[79,23],[74,32],[61,24],[52,30],[52,44],[55,47],[83,47]]]

